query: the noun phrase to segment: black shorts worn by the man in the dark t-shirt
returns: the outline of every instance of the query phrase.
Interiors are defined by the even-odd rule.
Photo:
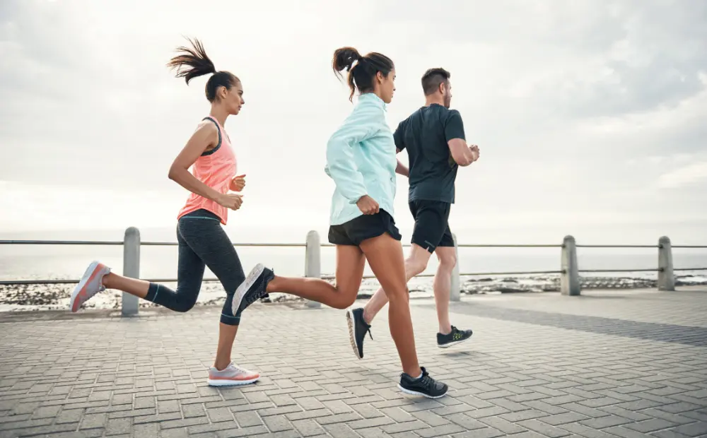
[[[409,203],[410,213],[415,219],[412,243],[431,253],[437,247],[453,247],[454,238],[449,229],[449,211],[452,204],[442,201],[418,199]]]

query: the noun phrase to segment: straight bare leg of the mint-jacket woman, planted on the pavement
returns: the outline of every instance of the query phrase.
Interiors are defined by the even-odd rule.
[[[378,278],[390,301],[388,308],[390,335],[395,341],[402,369],[409,376],[416,378],[422,370],[415,350],[402,245],[385,233],[361,242],[361,250],[366,254],[375,278]]]

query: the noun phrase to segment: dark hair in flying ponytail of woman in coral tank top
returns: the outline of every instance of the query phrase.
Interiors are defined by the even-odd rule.
[[[213,75],[209,81],[206,81],[206,99],[209,102],[216,100],[216,90],[219,87],[226,87],[226,90],[230,90],[231,87],[240,83],[240,79],[233,73],[216,71],[214,63],[206,55],[204,46],[199,40],[189,38],[187,40],[192,43],[192,47],[177,47],[178,54],[167,63],[170,69],[177,70],[175,75],[177,78],[185,78],[187,85],[189,85],[189,81],[198,76]]]

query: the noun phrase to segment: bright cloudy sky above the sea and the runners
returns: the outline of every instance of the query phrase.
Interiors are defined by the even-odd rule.
[[[0,235],[173,230],[187,194],[168,167],[209,111],[206,78],[165,68],[187,35],[245,88],[226,124],[247,174],[240,241],[327,229],[325,145],[351,110],[329,66],[342,45],[395,61],[392,126],[422,105],[423,71],[452,72],[481,148],[457,177],[460,239],[707,241],[704,1],[197,4],[0,2]],[[406,231],[403,178],[397,195]]]

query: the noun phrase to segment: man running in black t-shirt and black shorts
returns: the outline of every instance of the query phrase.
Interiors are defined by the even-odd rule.
[[[472,336],[471,330],[459,330],[449,320],[451,273],[457,260],[448,218],[454,203],[457,169],[479,159],[479,148],[467,146],[461,115],[456,109],[449,109],[452,100],[450,76],[445,69],[425,72],[422,88],[426,105],[400,122],[393,134],[397,151],[407,150],[409,157],[408,201],[415,219],[411,251],[405,261],[407,279],[427,268],[433,252],[440,261],[433,286],[439,320],[437,345],[440,348]],[[385,292],[379,289],[366,307],[346,312],[351,345],[359,358],[363,357],[363,337],[370,329],[370,322],[386,303]]]

